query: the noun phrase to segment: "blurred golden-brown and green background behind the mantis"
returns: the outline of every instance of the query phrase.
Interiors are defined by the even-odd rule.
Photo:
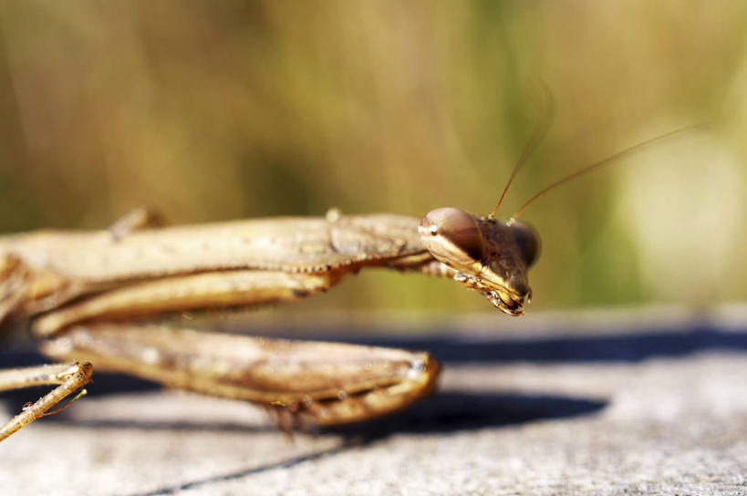
[[[534,309],[747,299],[747,3],[0,2],[0,233],[173,222],[499,217],[638,141],[712,121],[567,184]],[[85,256],[85,253],[81,253]],[[306,308],[491,311],[422,276],[363,273]],[[531,310],[530,310],[531,311]]]

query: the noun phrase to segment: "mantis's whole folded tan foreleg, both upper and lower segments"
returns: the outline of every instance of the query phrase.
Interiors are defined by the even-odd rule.
[[[76,356],[171,387],[282,406],[317,424],[378,415],[430,391],[438,365],[427,354],[116,322],[182,308],[290,301],[325,291],[338,279],[335,273],[272,271],[174,276],[67,305],[36,319],[34,332],[52,336],[66,328],[41,343],[56,359]],[[112,322],[88,324],[101,320]]]

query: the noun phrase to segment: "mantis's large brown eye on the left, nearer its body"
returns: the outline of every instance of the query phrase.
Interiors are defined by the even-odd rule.
[[[434,257],[454,268],[481,262],[485,255],[477,221],[460,209],[441,208],[428,212],[420,221],[418,233]]]

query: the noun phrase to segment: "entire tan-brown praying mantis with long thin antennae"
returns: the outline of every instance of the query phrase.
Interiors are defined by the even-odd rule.
[[[577,171],[529,202],[682,130]],[[73,361],[0,372],[0,390],[58,385],[0,429],[0,440],[85,386],[91,364],[265,404],[278,410],[285,429],[299,418],[337,424],[404,408],[435,387],[439,365],[428,353],[202,333],[131,319],[289,302],[368,267],[451,277],[504,313],[523,315],[531,297],[526,271],[539,253],[539,237],[515,218],[529,202],[508,222],[493,219],[495,210],[479,216],[441,208],[421,220],[333,210],[326,218],[162,227],[157,216],[136,210],[100,232],[0,237],[0,324],[33,319],[41,351]]]

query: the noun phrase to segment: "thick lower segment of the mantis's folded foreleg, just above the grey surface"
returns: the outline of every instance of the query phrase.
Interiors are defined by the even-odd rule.
[[[165,325],[76,325],[42,351],[169,387],[287,408],[322,425],[401,408],[428,394],[439,370],[427,353]]]

